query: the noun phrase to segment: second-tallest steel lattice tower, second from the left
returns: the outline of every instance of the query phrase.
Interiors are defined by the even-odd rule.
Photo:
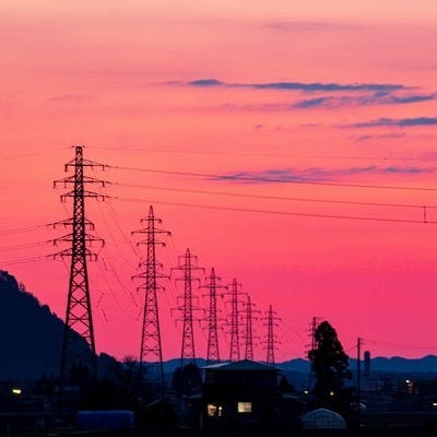
[[[144,307],[143,307],[143,323],[141,332],[141,350],[140,350],[140,368],[139,377],[142,380],[145,363],[151,365],[157,364],[158,373],[161,378],[161,388],[164,391],[165,379],[164,379],[164,366],[163,366],[163,350],[161,342],[161,328],[160,328],[160,311],[157,305],[157,291],[163,291],[164,287],[158,285],[157,281],[167,275],[161,273],[163,264],[156,260],[156,246],[165,246],[164,241],[156,239],[156,235],[166,234],[170,235],[169,232],[160,229],[156,225],[160,225],[162,221],[154,216],[153,206],[149,209],[149,216],[142,218],[141,223],[146,223],[146,227],[132,232],[133,234],[145,235],[145,239],[139,241],[138,245],[145,245],[146,257],[144,262],[140,262],[139,267],[143,268],[144,271],[133,277],[143,280],[143,284],[138,290],[143,290],[144,294]]]

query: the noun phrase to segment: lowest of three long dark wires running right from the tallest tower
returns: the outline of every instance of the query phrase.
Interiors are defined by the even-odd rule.
[[[365,217],[358,215],[336,215],[336,214],[317,214],[317,213],[305,213],[305,212],[292,212],[292,211],[274,211],[274,210],[255,210],[248,208],[234,208],[234,206],[214,206],[205,204],[192,204],[181,202],[165,202],[151,199],[131,199],[110,197],[114,200],[120,200],[125,202],[135,203],[155,203],[170,206],[186,206],[186,208],[200,208],[204,210],[218,210],[218,211],[235,211],[235,212],[249,212],[249,213],[261,213],[261,214],[276,214],[276,215],[292,215],[302,217],[320,217],[320,218],[344,218],[344,220],[356,220],[356,221],[371,221],[371,222],[389,222],[389,223],[420,223],[420,224],[437,224],[435,221],[427,220],[406,220],[406,218],[385,218],[385,217]]]

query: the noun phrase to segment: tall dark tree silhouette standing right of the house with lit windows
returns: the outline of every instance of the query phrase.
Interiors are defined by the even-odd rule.
[[[346,414],[350,411],[351,390],[344,388],[344,380],[352,378],[347,368],[349,356],[328,321],[319,324],[315,340],[316,349],[308,353],[316,377],[315,403]]]

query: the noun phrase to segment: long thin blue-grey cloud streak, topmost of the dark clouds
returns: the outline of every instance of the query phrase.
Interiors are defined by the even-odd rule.
[[[386,92],[408,90],[409,87],[401,84],[390,83],[321,83],[321,82],[267,82],[267,83],[226,83],[217,79],[198,79],[191,82],[185,82],[188,86],[199,87],[249,87],[255,90],[282,90],[282,91],[303,91],[303,92],[338,92],[338,91],[368,91],[368,92]]]

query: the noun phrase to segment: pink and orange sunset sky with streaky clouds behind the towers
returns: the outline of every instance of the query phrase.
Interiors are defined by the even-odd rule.
[[[69,260],[48,257],[64,231],[44,225],[71,216],[52,182],[84,145],[111,182],[86,202],[106,241],[88,265],[99,352],[139,356],[131,232],[152,204],[165,272],[189,248],[250,294],[256,359],[269,305],[276,362],[306,356],[312,317],[352,356],[358,336],[374,356],[437,354],[436,22],[435,0],[0,0],[0,269],[64,317]]]

